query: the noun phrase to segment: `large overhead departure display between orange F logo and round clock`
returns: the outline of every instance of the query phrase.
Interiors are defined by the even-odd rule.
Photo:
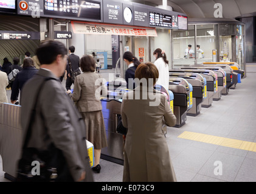
[[[44,15],[100,20],[100,2],[44,0]]]

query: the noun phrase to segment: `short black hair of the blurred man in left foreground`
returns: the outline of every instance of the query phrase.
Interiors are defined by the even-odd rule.
[[[52,64],[57,58],[58,55],[64,57],[67,55],[67,49],[65,45],[60,41],[44,41],[41,45],[36,49],[36,55],[40,64]]]

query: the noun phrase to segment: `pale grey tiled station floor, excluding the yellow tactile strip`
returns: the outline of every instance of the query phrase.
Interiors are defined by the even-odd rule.
[[[168,127],[166,140],[179,182],[256,181],[256,152],[178,138],[187,131],[256,142],[256,64],[247,65],[247,78],[229,95],[202,108],[200,115],[187,116],[181,128]],[[100,74],[108,80],[108,72]],[[103,159],[100,165],[95,181],[122,181],[123,166]],[[8,181],[3,176],[0,160],[0,181]]]

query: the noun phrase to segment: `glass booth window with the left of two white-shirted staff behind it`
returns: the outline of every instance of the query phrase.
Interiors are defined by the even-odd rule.
[[[173,30],[173,68],[195,64],[195,50],[195,25],[189,25],[188,30]]]

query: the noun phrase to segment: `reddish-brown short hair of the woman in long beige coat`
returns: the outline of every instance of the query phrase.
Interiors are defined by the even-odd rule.
[[[135,72],[135,78],[142,79],[145,78],[147,81],[153,79],[153,85],[156,84],[157,79],[159,78],[159,72],[156,65],[151,62],[141,63]]]

